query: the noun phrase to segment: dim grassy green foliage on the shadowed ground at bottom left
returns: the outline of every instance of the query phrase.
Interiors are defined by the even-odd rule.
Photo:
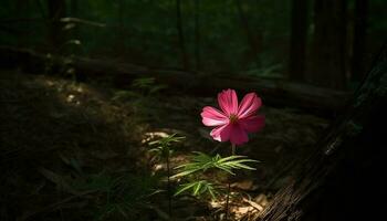
[[[73,177],[62,176],[49,169],[39,171],[56,189],[72,196],[87,194],[81,198],[92,210],[94,220],[143,219],[142,212],[151,207],[151,197],[161,192],[157,188],[159,177],[147,173],[112,175],[107,172],[84,173],[74,159],[62,157],[74,169]],[[146,218],[145,218],[146,220]]]

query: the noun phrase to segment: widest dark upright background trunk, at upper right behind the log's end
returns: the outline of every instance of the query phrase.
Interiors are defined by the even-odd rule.
[[[311,83],[346,86],[346,0],[315,0]]]

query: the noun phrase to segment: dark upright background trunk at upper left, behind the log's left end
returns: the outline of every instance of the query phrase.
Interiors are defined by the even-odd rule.
[[[49,9],[49,42],[53,52],[60,53],[65,43],[63,33],[63,22],[61,18],[65,17],[64,0],[48,0]]]

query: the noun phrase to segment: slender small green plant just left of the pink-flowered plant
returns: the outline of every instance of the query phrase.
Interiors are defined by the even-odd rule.
[[[167,165],[167,193],[168,193],[168,214],[171,218],[171,187],[170,187],[170,156],[172,154],[171,146],[175,143],[180,143],[185,137],[177,136],[172,134],[166,137],[163,137],[158,140],[149,143],[150,146],[155,146],[149,151],[154,152],[156,157],[165,160]]]

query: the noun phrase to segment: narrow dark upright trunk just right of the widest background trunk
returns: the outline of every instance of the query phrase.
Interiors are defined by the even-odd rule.
[[[352,45],[352,80],[362,81],[365,72],[365,46],[368,0],[355,1],[354,41]]]

